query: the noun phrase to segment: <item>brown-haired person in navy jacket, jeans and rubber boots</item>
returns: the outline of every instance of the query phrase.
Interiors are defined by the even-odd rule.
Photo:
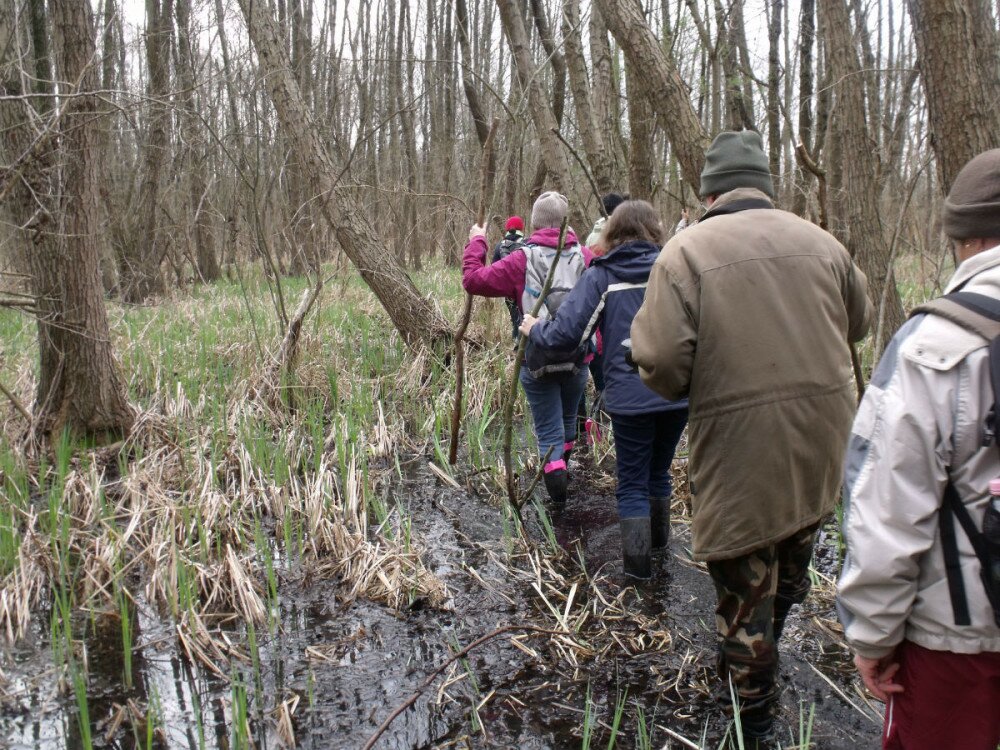
[[[565,349],[598,329],[604,340],[605,408],[618,470],[618,518],[625,575],[646,579],[651,550],[670,536],[670,464],[687,424],[687,400],[666,401],[642,384],[623,341],[642,306],[664,231],[646,201],[625,201],[604,225],[595,257],[552,320],[525,315],[520,331],[541,347]]]

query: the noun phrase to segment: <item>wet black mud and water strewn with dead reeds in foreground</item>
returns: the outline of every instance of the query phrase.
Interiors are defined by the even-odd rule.
[[[713,697],[714,591],[690,562],[682,503],[654,579],[623,588],[613,478],[590,463],[572,469],[550,535],[535,508],[525,509],[533,547],[512,536],[474,478],[443,481],[426,457],[412,458],[392,491],[447,586],[445,606],[412,597],[394,611],[345,597],[336,580],[279,566],[274,626],[251,633],[227,625],[245,657],[229,675],[186,658],[168,621],[139,606],[127,688],[120,626],[76,613],[93,746],[279,748],[294,738],[302,748],[364,747],[456,651],[525,626],[550,632],[486,639],[445,668],[374,746],[578,748],[588,735],[590,746],[608,747],[617,732],[618,747],[719,747],[728,721]],[[553,538],[558,547],[546,541]],[[822,546],[820,570],[833,557]],[[829,586],[819,583],[781,644],[782,746],[797,746],[801,722],[813,747],[873,747],[877,706],[852,684]],[[7,747],[83,746],[79,702],[52,668],[46,622],[36,618],[29,637],[3,654]],[[234,732],[238,724],[247,737]]]

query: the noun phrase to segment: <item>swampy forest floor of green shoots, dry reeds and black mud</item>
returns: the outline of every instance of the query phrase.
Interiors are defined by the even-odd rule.
[[[376,747],[737,746],[682,460],[670,554],[623,587],[608,445],[574,460],[564,510],[525,507],[523,534],[503,502],[506,344],[470,356],[449,467],[452,373],[410,356],[367,290],[317,314],[295,409],[275,412],[253,389],[280,334],[267,293],[219,286],[114,316],[141,410],[124,445],[32,457],[4,407],[0,746],[360,748],[411,699]],[[25,402],[31,335],[0,318]],[[499,305],[473,335],[509,336]],[[785,748],[878,741],[833,613],[837,544],[831,522],[781,645]]]

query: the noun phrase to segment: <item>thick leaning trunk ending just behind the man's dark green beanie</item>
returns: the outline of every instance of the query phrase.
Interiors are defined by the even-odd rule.
[[[687,86],[650,30],[637,0],[595,0],[625,52],[646,98],[667,128],[684,179],[697,193],[708,135],[691,106]]]

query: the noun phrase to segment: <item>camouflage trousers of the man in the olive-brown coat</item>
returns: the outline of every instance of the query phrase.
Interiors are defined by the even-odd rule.
[[[780,696],[778,644],[793,604],[809,593],[809,561],[818,524],[777,544],[731,560],[708,563],[715,584],[719,677],[732,679],[740,714],[766,719]]]

